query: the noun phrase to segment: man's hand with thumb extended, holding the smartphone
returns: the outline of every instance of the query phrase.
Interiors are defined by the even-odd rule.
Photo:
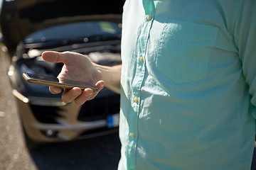
[[[75,104],[82,105],[85,101],[89,101],[99,93],[105,86],[102,81],[102,73],[92,64],[90,59],[85,55],[76,52],[43,52],[43,60],[47,62],[63,62],[63,68],[58,75],[58,79],[71,79],[75,81],[87,81],[95,84],[97,91],[92,89],[81,90],[78,87],[73,89],[64,89],[62,100],[65,103],[75,101]],[[49,90],[52,94],[59,94],[61,88],[50,86]]]

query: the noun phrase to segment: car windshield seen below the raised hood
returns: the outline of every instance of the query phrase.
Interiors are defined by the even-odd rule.
[[[49,42],[53,40],[82,40],[95,36],[121,37],[121,26],[117,23],[106,21],[90,21],[79,23],[68,23],[40,30],[28,35],[24,42]]]

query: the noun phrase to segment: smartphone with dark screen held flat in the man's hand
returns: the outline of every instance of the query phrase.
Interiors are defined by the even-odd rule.
[[[73,80],[59,80],[57,77],[47,77],[38,74],[23,73],[23,78],[26,79],[28,83],[41,84],[46,86],[58,86],[65,89],[71,89],[73,87],[78,87],[82,90],[90,88],[92,91],[97,91],[96,87],[92,87],[83,81],[73,81]]]

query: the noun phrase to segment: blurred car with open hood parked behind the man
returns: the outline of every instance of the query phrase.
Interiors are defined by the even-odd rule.
[[[118,132],[119,94],[102,89],[82,106],[63,103],[48,86],[28,84],[24,72],[57,77],[62,63],[41,58],[44,51],[80,52],[92,62],[121,64],[124,1],[4,0],[2,42],[10,57],[8,77],[28,149]]]

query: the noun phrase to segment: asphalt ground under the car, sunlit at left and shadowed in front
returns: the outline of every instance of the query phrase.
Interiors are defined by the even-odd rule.
[[[6,76],[7,61],[0,52],[0,170],[117,169],[120,157],[117,133],[28,151]]]

